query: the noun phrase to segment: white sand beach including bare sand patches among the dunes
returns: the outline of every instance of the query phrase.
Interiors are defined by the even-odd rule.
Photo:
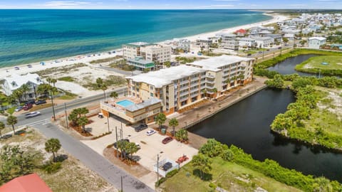
[[[247,25],[243,25],[243,26],[236,26],[236,27],[232,27],[232,28],[225,28],[219,31],[213,31],[213,32],[209,32],[209,33],[202,33],[199,35],[195,35],[195,36],[188,36],[185,37],[190,41],[195,41],[198,38],[208,38],[208,37],[212,37],[215,36],[216,33],[233,33],[234,31],[237,31],[240,28],[252,28],[255,26],[261,26],[261,25],[267,25],[269,23],[276,23],[278,21],[285,21],[287,19],[289,19],[289,17],[287,16],[283,16],[283,15],[279,15],[279,14],[270,14],[270,13],[266,13],[266,15],[269,16],[273,16],[271,19],[269,19],[268,21],[261,21],[258,23],[251,23],[251,24],[247,24]],[[160,43],[164,43],[165,41],[162,41]],[[115,53],[114,53],[115,51]],[[110,52],[110,54],[108,53]],[[120,75],[123,76],[121,74],[112,72],[112,71],[107,71],[107,70],[102,70],[98,68],[98,65],[92,65],[90,64],[90,61],[92,60],[99,60],[99,59],[104,59],[104,58],[114,58],[116,55],[122,55],[122,51],[121,49],[117,49],[117,50],[110,50],[110,51],[106,51],[103,53],[91,53],[91,54],[87,54],[87,55],[76,55],[73,57],[68,57],[68,58],[61,58],[61,59],[56,59],[56,60],[48,60],[48,61],[41,61],[43,62],[44,65],[42,65],[42,63],[29,63],[29,64],[25,64],[25,65],[17,65],[17,67],[19,67],[19,69],[14,68],[16,66],[12,66],[12,67],[6,67],[6,68],[1,68],[0,70],[0,79],[5,78],[6,76],[9,76],[11,74],[18,74],[18,75],[23,75],[26,73],[34,73],[36,71],[40,71],[40,70],[45,70],[47,68],[61,68],[65,65],[72,65],[72,64],[76,64],[76,63],[85,63],[86,65],[88,65],[87,67],[83,67],[82,73],[80,73],[78,70],[72,70],[69,71],[67,74],[59,74],[59,75],[53,75],[53,78],[61,78],[63,76],[72,76],[72,77],[80,77],[83,74],[91,74],[94,77],[103,77],[105,78],[108,75]],[[30,65],[30,67],[28,67],[28,65]],[[75,85],[73,85],[75,84]],[[61,89],[66,89],[66,90],[71,90],[71,92],[74,92],[78,95],[94,95],[97,94],[98,91],[94,91],[94,92],[90,92],[90,91],[86,91],[86,88],[81,87],[81,85],[78,85],[76,83],[63,83],[60,82],[57,84],[58,87],[60,87]]]

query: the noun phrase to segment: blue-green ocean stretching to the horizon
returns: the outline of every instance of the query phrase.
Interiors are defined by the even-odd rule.
[[[269,19],[247,10],[0,10],[0,67],[182,38]]]

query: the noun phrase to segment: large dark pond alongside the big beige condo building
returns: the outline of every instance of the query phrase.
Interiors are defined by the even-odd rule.
[[[273,159],[304,174],[342,182],[342,154],[292,142],[271,133],[276,114],[294,102],[291,90],[261,90],[190,129],[202,137],[234,144],[254,159]]]

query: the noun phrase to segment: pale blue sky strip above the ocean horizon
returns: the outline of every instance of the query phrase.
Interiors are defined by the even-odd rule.
[[[342,0],[0,0],[0,9],[342,9]]]

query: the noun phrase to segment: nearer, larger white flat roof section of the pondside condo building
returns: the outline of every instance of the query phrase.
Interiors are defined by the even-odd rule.
[[[162,70],[152,71],[150,73],[142,73],[132,77],[127,77],[135,82],[145,82],[155,87],[162,87],[172,83],[173,80],[185,78],[187,76],[205,72],[206,70],[201,68],[190,67],[187,65],[179,65],[176,67],[166,68]]]

